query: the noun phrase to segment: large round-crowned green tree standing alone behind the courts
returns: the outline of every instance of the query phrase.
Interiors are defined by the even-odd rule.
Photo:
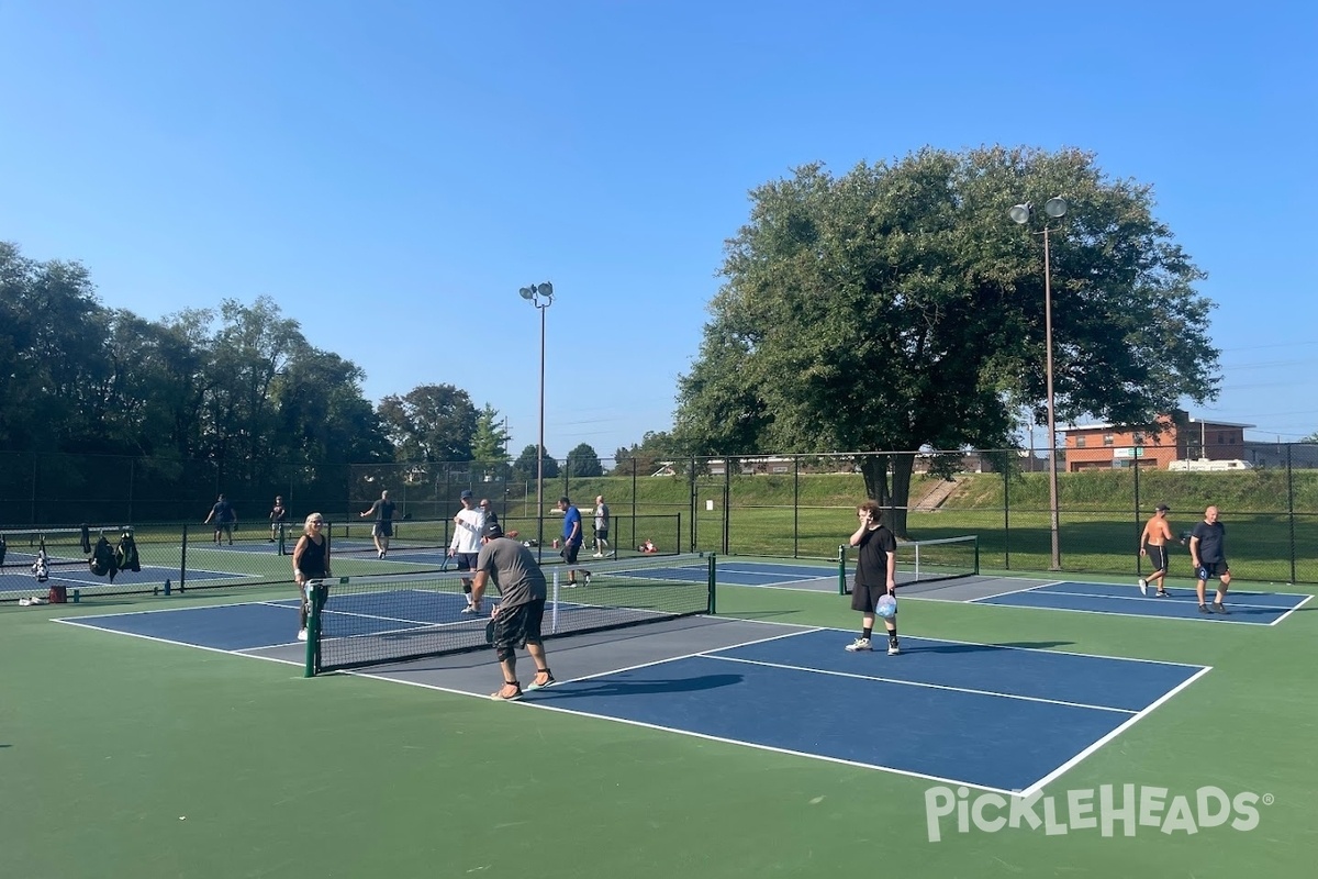
[[[1057,419],[1147,424],[1213,399],[1211,304],[1148,186],[1081,150],[924,149],[751,192],[675,438],[709,455],[878,452],[866,489],[904,535],[912,456],[883,452],[1006,447],[1020,405],[1045,420],[1044,217],[1007,211],[1052,196],[1070,203],[1049,235]]]

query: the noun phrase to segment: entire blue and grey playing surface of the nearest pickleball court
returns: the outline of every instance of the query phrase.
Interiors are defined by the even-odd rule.
[[[432,598],[426,608],[406,600],[410,615],[398,617],[402,606],[390,610],[370,597],[369,608],[340,605],[327,625],[337,613],[355,633],[377,625],[385,631],[484,626],[460,617],[460,596]],[[294,640],[295,598],[62,622],[293,664],[304,650]],[[941,783],[1033,792],[1209,671],[1039,648],[1053,644],[909,637],[899,656],[850,654],[842,650],[854,637],[849,631],[716,617],[680,625],[685,629],[655,623],[626,637],[554,640],[560,683],[509,710],[572,712]],[[485,696],[490,666],[493,655],[474,663],[468,655],[364,673]]]

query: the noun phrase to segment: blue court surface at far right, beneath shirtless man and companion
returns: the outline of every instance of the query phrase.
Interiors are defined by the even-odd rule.
[[[1214,585],[1210,582],[1207,600],[1211,602]],[[1077,610],[1083,613],[1116,614],[1122,617],[1160,617],[1165,619],[1195,619],[1210,622],[1276,626],[1313,596],[1253,592],[1232,588],[1227,592],[1227,615],[1199,613],[1194,589],[1168,589],[1168,598],[1157,598],[1153,589],[1140,594],[1132,585],[1111,582],[1048,582],[1039,586],[1015,589],[999,594],[973,598],[970,604],[1007,605],[1011,608],[1043,608],[1046,610]]]

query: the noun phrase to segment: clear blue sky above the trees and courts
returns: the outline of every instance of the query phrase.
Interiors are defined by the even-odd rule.
[[[378,401],[668,430],[747,191],[924,145],[1094,150],[1210,278],[1220,399],[1318,431],[1313,3],[0,0],[0,239],[158,319],[275,298]],[[1003,206],[1006,211],[1008,206]],[[1006,217],[1004,217],[1004,221]]]

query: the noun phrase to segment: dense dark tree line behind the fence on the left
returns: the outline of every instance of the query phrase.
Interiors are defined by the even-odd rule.
[[[243,461],[253,477],[262,461],[536,472],[536,445],[509,461],[498,411],[465,390],[427,383],[377,406],[364,378],[269,297],[148,320],[103,304],[79,262],[36,261],[0,241],[0,451]],[[546,473],[559,467],[546,449]],[[602,472],[588,444],[567,467]]]

